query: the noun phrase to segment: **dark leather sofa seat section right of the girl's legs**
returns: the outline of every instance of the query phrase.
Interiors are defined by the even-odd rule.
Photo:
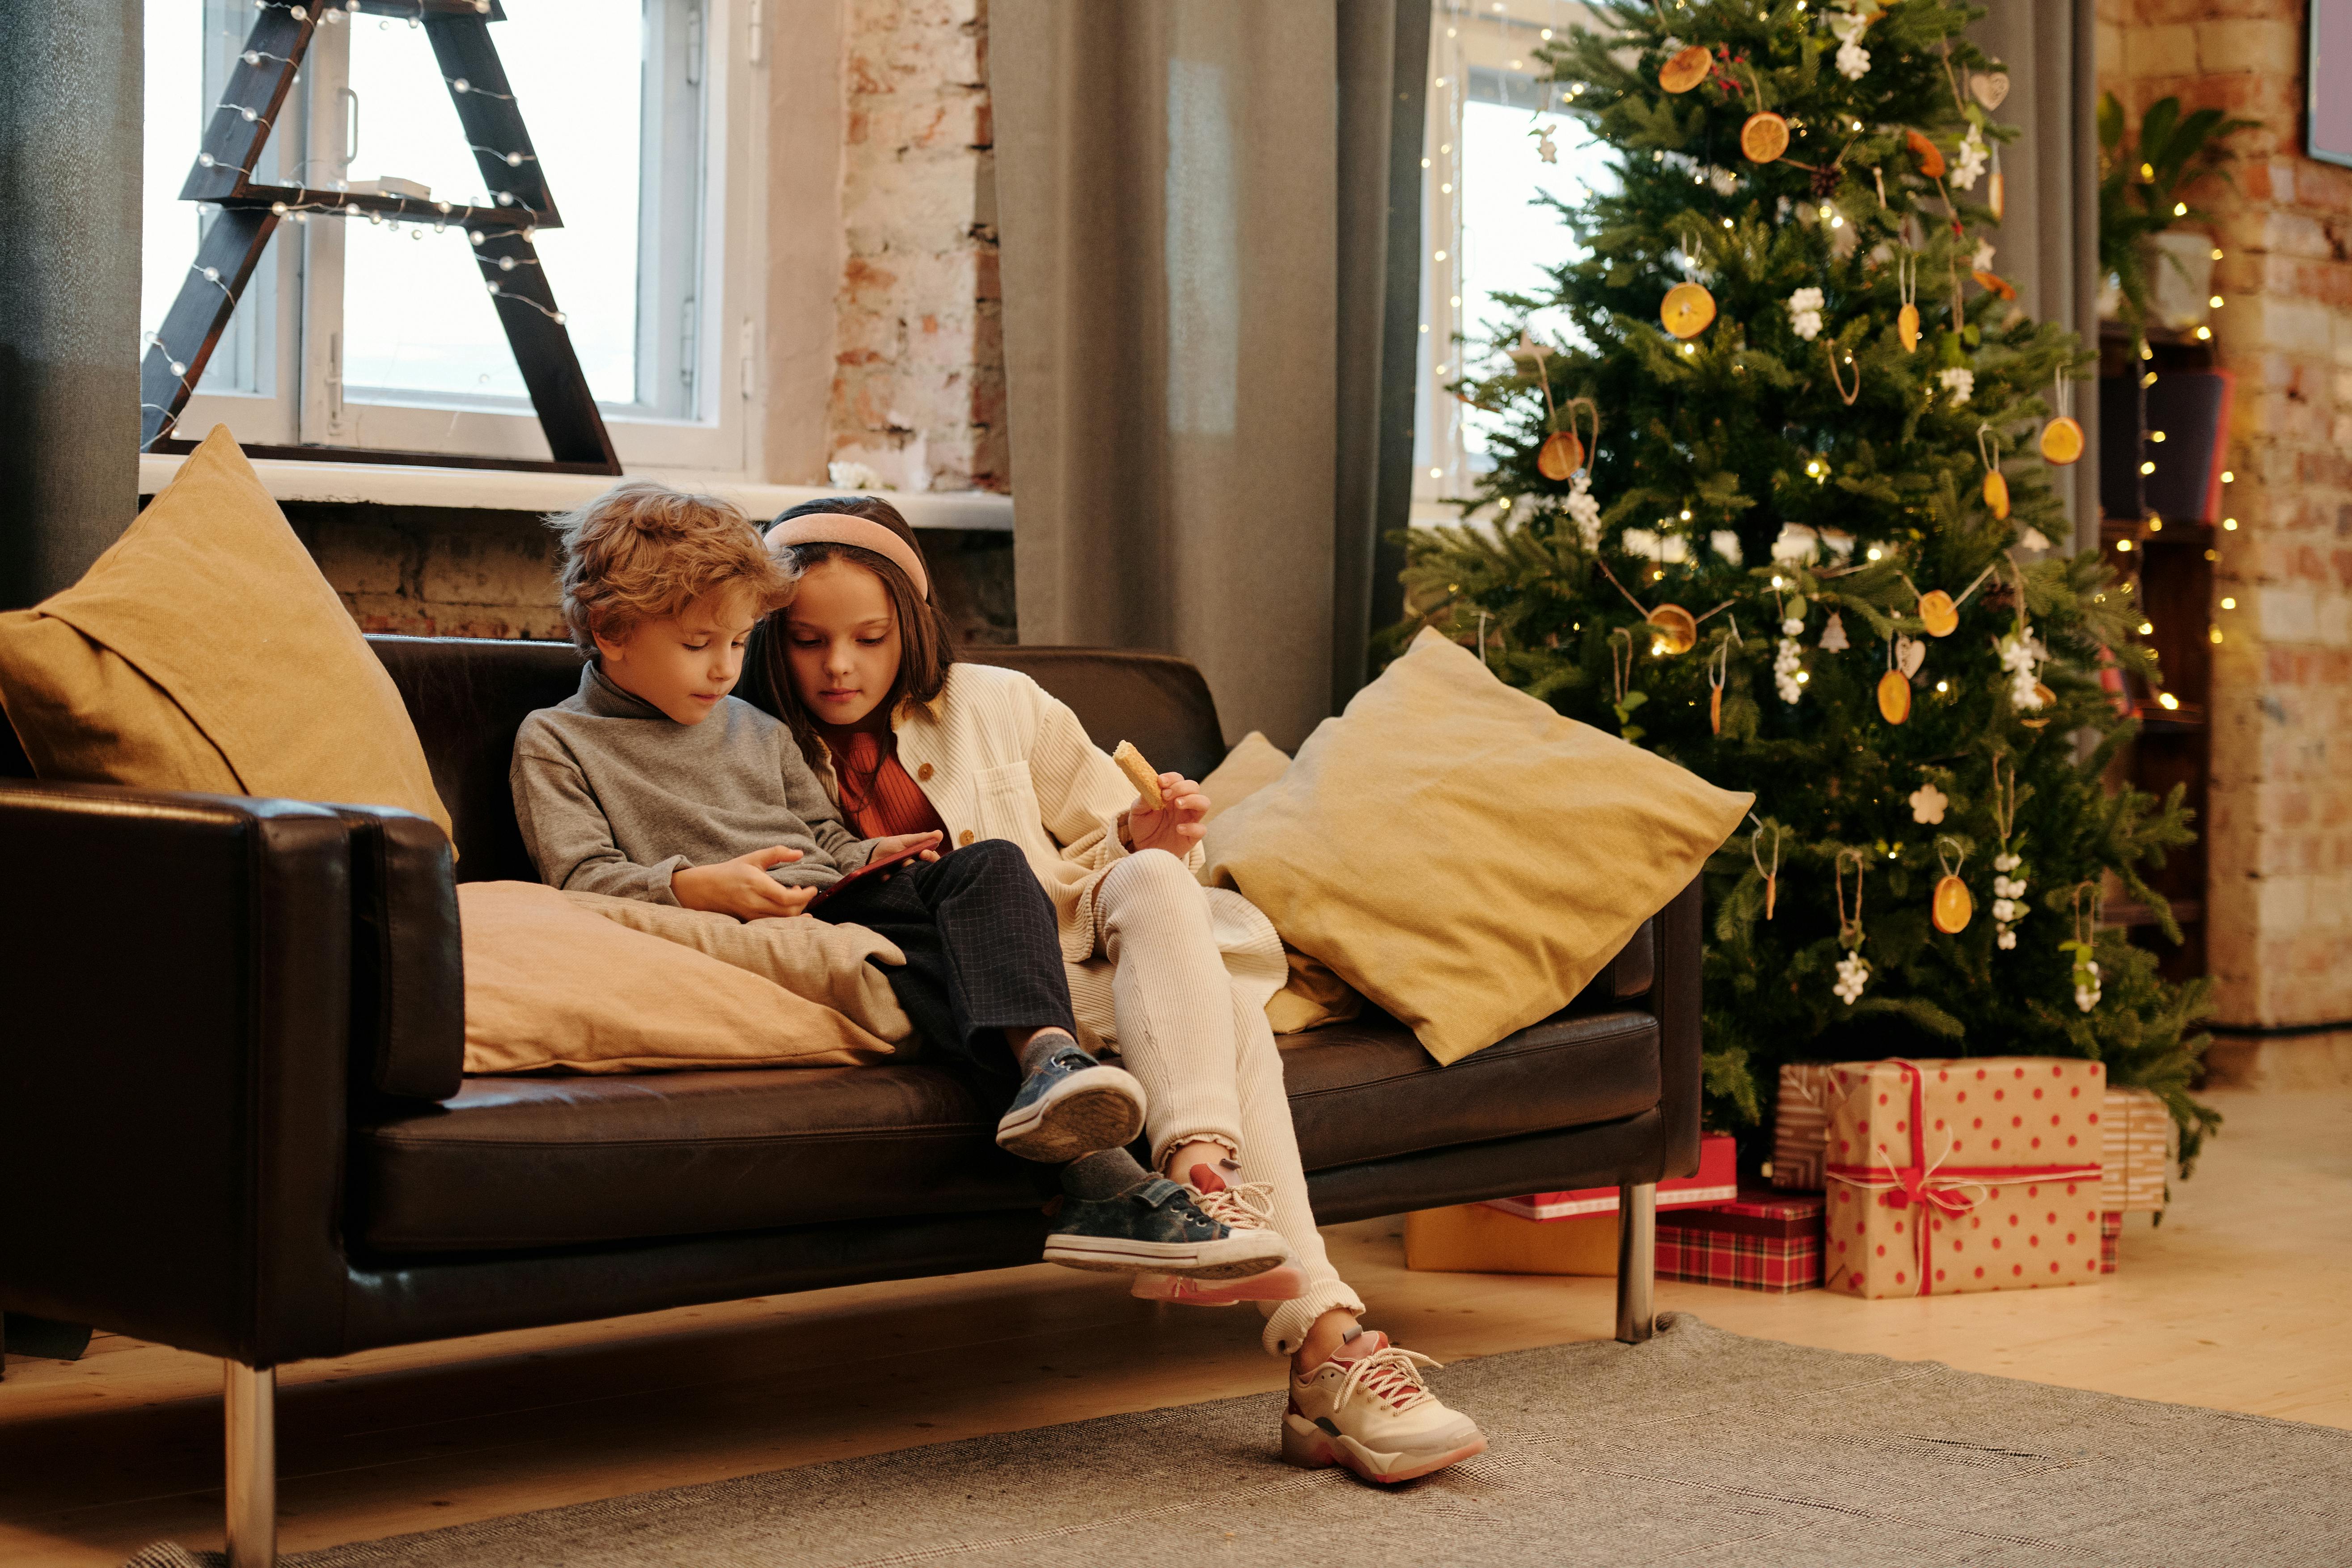
[[[1282,1079],[1308,1171],[1637,1117],[1658,1105],[1658,1020],[1555,1013],[1439,1067],[1376,1009],[1284,1034]]]

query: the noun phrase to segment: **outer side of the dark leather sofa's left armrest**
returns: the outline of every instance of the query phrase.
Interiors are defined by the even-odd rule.
[[[339,1347],[346,839],[0,780],[0,1305],[254,1366]]]

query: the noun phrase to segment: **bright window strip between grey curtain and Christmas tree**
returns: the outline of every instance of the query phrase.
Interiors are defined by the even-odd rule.
[[[1559,108],[1559,89],[1536,49],[1571,26],[1592,26],[1583,5],[1435,0],[1423,167],[1421,390],[1414,428],[1414,515],[1451,520],[1442,505],[1470,496],[1491,468],[1491,416],[1446,388],[1498,369],[1494,341],[1517,327],[1496,294],[1550,294],[1548,268],[1573,256],[1569,230],[1543,197],[1578,202],[1606,176],[1602,150]],[[1550,143],[1550,158],[1545,158]],[[1557,313],[1529,331],[1573,339]]]

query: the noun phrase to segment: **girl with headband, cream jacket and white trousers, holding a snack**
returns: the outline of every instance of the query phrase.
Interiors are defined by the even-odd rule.
[[[957,663],[915,531],[887,501],[811,501],[767,534],[797,574],[760,623],[746,696],[790,724],[861,835],[1011,839],[1054,900],[1082,1034],[1143,1079],[1152,1164],[1235,1229],[1272,1229],[1296,1267],[1225,1286],[1145,1274],[1136,1295],[1258,1300],[1265,1349],[1291,1356],[1282,1455],[1404,1481],[1486,1448],[1428,1389],[1428,1356],[1364,1331],[1308,1206],[1265,1001],[1284,978],[1272,924],[1202,889],[1200,785],[1134,788],[1030,677]]]

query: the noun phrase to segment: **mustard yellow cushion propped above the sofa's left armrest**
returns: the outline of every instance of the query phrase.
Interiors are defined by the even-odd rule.
[[[80,583],[0,616],[0,708],[40,778],[449,827],[393,677],[226,425]]]

